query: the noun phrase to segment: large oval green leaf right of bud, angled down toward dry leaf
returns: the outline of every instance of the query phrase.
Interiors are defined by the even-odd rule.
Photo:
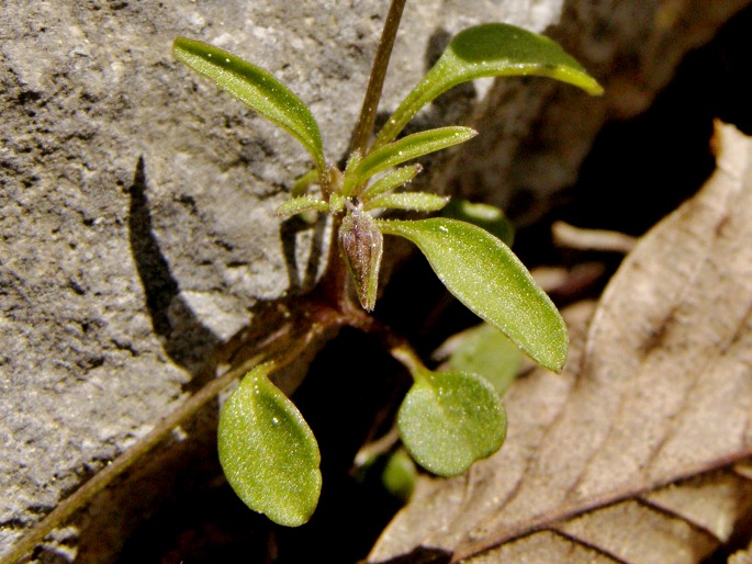
[[[525,266],[501,240],[480,227],[445,217],[380,221],[379,227],[417,245],[460,302],[540,365],[561,372],[569,347],[566,326]]]

